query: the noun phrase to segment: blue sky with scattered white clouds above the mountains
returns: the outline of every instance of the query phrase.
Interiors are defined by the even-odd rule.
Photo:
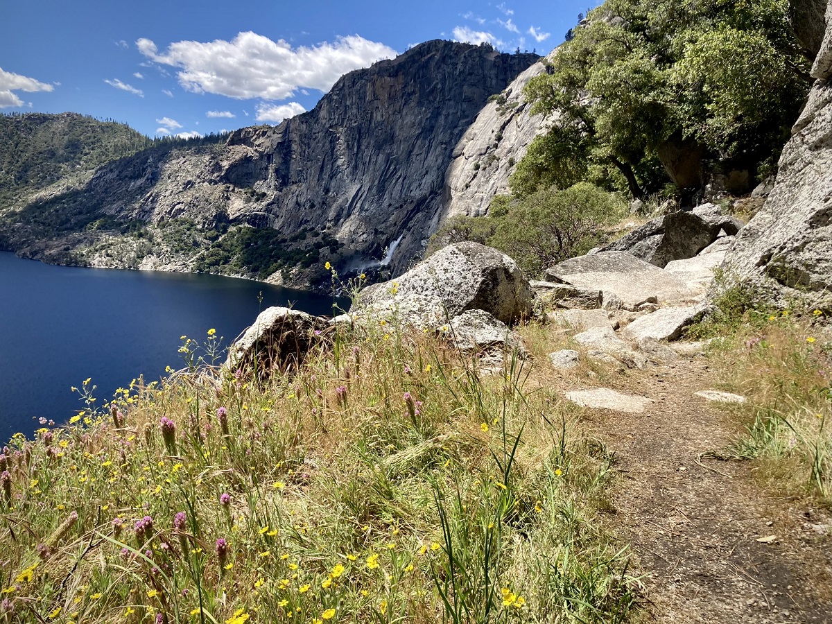
[[[275,125],[429,39],[546,54],[596,3],[6,0],[0,111],[75,111],[149,136]]]

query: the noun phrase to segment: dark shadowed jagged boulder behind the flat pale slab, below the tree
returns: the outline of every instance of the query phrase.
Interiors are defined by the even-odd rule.
[[[722,215],[712,204],[690,212],[673,212],[648,221],[602,251],[626,251],[651,265],[664,267],[672,260],[692,258],[725,232],[735,235],[742,222]]]

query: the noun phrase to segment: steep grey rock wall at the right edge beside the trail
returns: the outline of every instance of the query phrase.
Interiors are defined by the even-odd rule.
[[[818,78],[780,156],[774,190],[736,237],[726,275],[764,300],[832,310],[832,2]]]

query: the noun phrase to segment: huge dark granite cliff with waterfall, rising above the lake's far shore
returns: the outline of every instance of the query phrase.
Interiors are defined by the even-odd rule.
[[[0,246],[67,264],[300,286],[314,285],[311,267],[324,255],[340,270],[400,273],[438,222],[465,131],[537,59],[420,44],[349,72],[314,110],[280,126],[243,128],[224,145],[141,151],[83,184],[0,207]],[[261,253],[246,264],[240,255],[252,245]]]

